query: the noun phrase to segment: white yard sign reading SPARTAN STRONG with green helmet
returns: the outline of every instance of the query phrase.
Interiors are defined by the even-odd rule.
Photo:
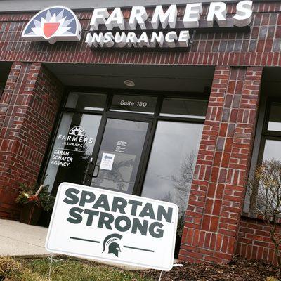
[[[87,259],[171,270],[177,222],[175,204],[62,183],[46,249]]]

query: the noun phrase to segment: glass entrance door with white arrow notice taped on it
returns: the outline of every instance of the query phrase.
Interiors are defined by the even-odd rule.
[[[133,193],[148,127],[149,122],[107,119],[98,157],[91,162],[91,186]]]

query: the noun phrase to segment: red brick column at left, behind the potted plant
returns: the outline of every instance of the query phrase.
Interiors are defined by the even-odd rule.
[[[41,63],[13,63],[0,100],[0,218],[18,218],[18,183],[37,181],[62,94]]]

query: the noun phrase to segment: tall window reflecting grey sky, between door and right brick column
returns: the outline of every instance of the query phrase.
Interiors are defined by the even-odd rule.
[[[178,205],[179,235],[183,228],[202,129],[203,124],[158,122],[143,185],[143,197]]]

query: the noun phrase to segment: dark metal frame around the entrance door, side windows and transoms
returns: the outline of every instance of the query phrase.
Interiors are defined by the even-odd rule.
[[[67,97],[71,92],[79,93],[105,93],[107,98],[105,101],[105,107],[103,110],[77,110],[76,108],[67,108],[65,107],[67,103]],[[155,107],[154,114],[143,114],[143,113],[132,113],[132,112],[117,112],[110,111],[110,105],[112,103],[113,95],[120,94],[125,96],[157,96],[157,103]],[[171,91],[147,91],[147,90],[135,90],[135,89],[93,89],[88,87],[67,87],[63,99],[60,104],[60,109],[58,110],[57,116],[55,117],[55,125],[51,133],[51,138],[48,141],[48,148],[44,155],[44,162],[41,165],[41,171],[39,174],[39,180],[43,181],[46,174],[46,169],[48,167],[48,162],[51,157],[51,152],[53,145],[55,143],[55,137],[57,136],[58,129],[60,126],[61,119],[65,112],[72,113],[82,113],[90,115],[101,115],[100,126],[98,129],[98,134],[96,138],[96,143],[93,148],[92,155],[98,155],[100,150],[100,144],[103,140],[103,133],[105,130],[106,122],[108,118],[117,118],[117,119],[136,119],[138,121],[148,121],[151,122],[150,131],[148,131],[148,136],[145,140],[147,145],[143,149],[143,155],[141,162],[138,167],[138,175],[136,178],[135,186],[133,188],[133,195],[141,196],[143,189],[143,183],[145,180],[146,170],[148,168],[148,161],[150,159],[150,153],[152,150],[152,144],[155,138],[155,132],[157,128],[158,121],[171,121],[171,122],[188,122],[188,123],[199,123],[204,124],[205,118],[190,118],[190,117],[173,117],[173,116],[161,116],[160,110],[162,108],[162,103],[164,98],[190,98],[196,100],[207,100],[209,102],[209,93],[182,93],[182,92],[171,92]],[[87,168],[89,169],[89,167]],[[84,183],[85,184],[85,183]],[[91,184],[91,183],[90,183]],[[55,190],[56,193],[56,190]]]

